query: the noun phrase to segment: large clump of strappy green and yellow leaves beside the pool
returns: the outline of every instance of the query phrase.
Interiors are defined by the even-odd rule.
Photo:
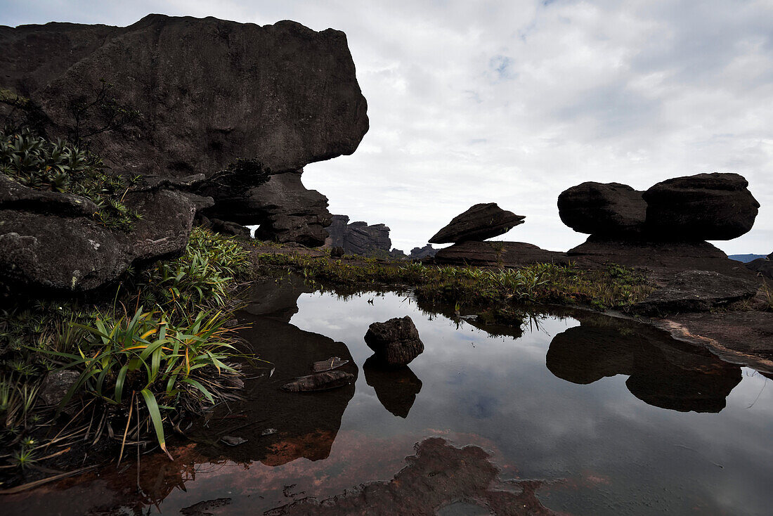
[[[34,450],[62,439],[43,424],[72,400],[81,424],[68,439],[109,434],[138,444],[150,434],[165,448],[166,429],[185,415],[233,398],[240,353],[238,328],[228,322],[234,290],[250,279],[249,252],[194,228],[184,255],[131,273],[109,304],[49,301],[0,311],[0,447],[15,449],[19,466],[42,460]],[[40,380],[56,371],[76,371],[77,381],[50,408],[39,402]],[[32,438],[39,444],[19,447]]]

